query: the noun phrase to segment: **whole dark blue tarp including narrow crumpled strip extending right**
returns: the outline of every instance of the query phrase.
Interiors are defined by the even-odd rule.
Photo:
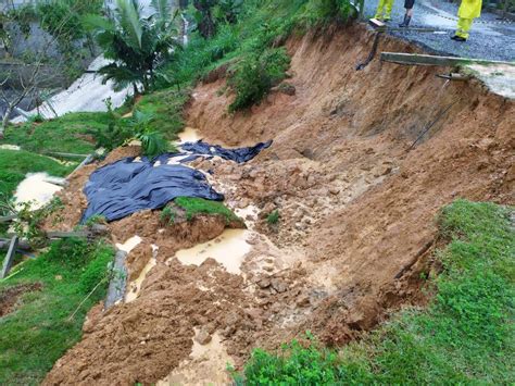
[[[83,215],[86,222],[92,215],[115,221],[145,209],[161,209],[177,197],[198,197],[223,201],[205,176],[191,167],[168,165],[168,160],[181,157],[180,163],[199,157],[222,157],[238,163],[247,162],[269,147],[272,141],[251,148],[224,149],[203,141],[181,145],[183,152],[167,153],[141,162],[134,158],[123,159],[93,172],[84,192],[88,208]]]

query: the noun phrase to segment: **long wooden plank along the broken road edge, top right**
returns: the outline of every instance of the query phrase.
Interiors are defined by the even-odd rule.
[[[438,57],[422,53],[404,52],[381,52],[381,61],[409,65],[442,65],[456,66],[462,64],[507,64],[515,65],[515,62],[501,62],[483,59]]]

